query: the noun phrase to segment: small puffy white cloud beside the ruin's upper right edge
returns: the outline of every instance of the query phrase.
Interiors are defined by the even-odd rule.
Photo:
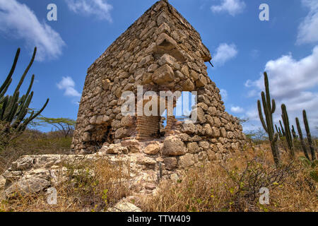
[[[237,53],[237,47],[235,44],[222,43],[216,49],[213,61],[216,63],[216,66],[223,66],[226,61],[236,57]]]

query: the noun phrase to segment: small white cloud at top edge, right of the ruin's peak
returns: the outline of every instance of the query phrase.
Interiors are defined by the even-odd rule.
[[[211,6],[213,12],[228,12],[231,16],[235,16],[238,13],[242,13],[246,4],[241,0],[222,0],[219,6]]]

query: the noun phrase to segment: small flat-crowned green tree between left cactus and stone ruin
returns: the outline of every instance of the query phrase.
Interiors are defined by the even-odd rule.
[[[58,131],[60,131],[64,137],[71,135],[71,132],[75,128],[76,121],[73,119],[67,118],[47,118],[47,117],[37,117],[36,125],[37,126],[54,126]]]

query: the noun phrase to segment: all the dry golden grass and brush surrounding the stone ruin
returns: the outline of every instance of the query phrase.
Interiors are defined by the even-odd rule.
[[[70,145],[71,138],[26,131],[0,154],[0,173],[21,155],[67,154]],[[160,212],[317,212],[317,182],[310,177],[312,169],[299,160],[302,151],[297,155],[292,162],[284,153],[283,166],[276,170],[269,145],[252,145],[222,164],[209,163],[188,169],[178,182],[161,182],[155,195],[142,195],[136,198],[135,204],[143,211]],[[0,203],[0,211],[102,211],[131,195],[129,172],[124,162],[114,167],[101,159],[64,167],[69,179],[56,187],[57,205],[49,205],[47,194],[42,191],[32,196],[17,194]],[[318,171],[318,167],[314,170]],[[269,205],[259,204],[262,186],[270,191]]]

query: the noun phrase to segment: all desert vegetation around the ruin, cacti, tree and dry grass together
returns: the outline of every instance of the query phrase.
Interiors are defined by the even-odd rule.
[[[72,119],[41,116],[48,100],[37,113],[30,111],[34,76],[27,93],[19,97],[20,83],[33,59],[13,96],[5,96],[18,53],[19,50],[0,88],[0,174],[23,155],[67,155],[75,126]],[[103,158],[76,165],[61,162],[67,177],[56,187],[56,205],[47,203],[43,190],[26,196],[13,194],[1,201],[0,211],[107,211],[124,197],[143,211],[318,211],[317,138],[311,136],[305,110],[302,114],[306,137],[298,118],[298,133],[294,126],[290,127],[285,105],[281,106],[283,123],[273,124],[276,103],[271,100],[266,73],[264,81],[266,90],[261,93],[258,108],[265,132],[259,129],[247,134],[245,147],[233,151],[225,161],[190,167],[177,179],[159,180],[152,194],[134,193],[131,176],[125,170],[129,162],[119,162],[117,167]],[[30,129],[41,124],[50,124],[56,130],[43,133]],[[261,188],[270,191],[268,205],[259,202]]]

